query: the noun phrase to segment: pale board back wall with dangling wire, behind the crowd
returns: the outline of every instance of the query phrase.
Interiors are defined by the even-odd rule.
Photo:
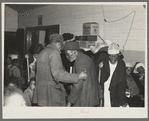
[[[134,10],[135,16],[133,12],[120,21],[111,22],[125,17]],[[99,23],[99,35],[103,39],[118,43],[125,61],[144,63],[145,10],[143,5],[49,5],[19,13],[19,28],[37,26],[38,15],[42,15],[43,26],[60,24],[61,34],[70,32],[82,35],[83,23],[97,22]],[[98,42],[102,41],[98,38]]]

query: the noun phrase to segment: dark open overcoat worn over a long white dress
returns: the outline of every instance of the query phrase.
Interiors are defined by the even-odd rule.
[[[109,60],[103,61],[103,68],[101,69],[100,84],[104,91],[104,83],[110,76]],[[125,62],[119,57],[117,67],[113,72],[110,86],[111,107],[119,107],[126,103],[126,66]]]

